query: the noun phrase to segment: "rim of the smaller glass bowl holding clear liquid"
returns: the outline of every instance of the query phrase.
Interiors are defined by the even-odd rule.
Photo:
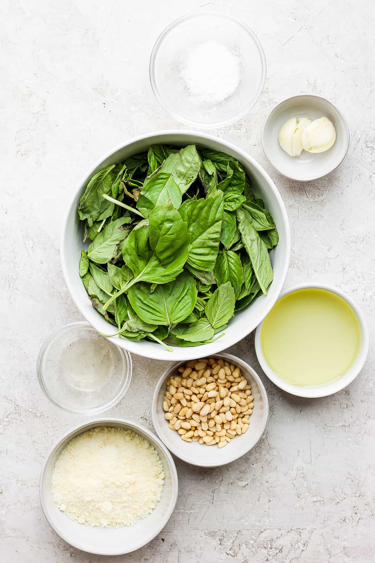
[[[88,323],[85,320],[82,320],[82,321],[76,321],[74,323],[65,324],[64,326],[58,328],[57,330],[54,330],[51,334],[49,334],[48,338],[46,338],[46,340],[43,342],[42,346],[40,347],[38,358],[37,358],[37,378],[38,378],[38,382],[39,382],[40,388],[42,389],[44,395],[46,395],[47,399],[49,399],[51,401],[51,403],[53,403],[55,406],[58,406],[58,408],[65,410],[65,412],[74,413],[74,414],[84,414],[84,415],[88,415],[88,416],[101,414],[101,413],[106,412],[106,410],[111,409],[116,404],[118,404],[119,401],[124,397],[126,392],[129,390],[130,382],[132,381],[132,376],[133,376],[132,356],[130,356],[128,350],[124,350],[124,348],[120,348],[120,346],[114,345],[111,341],[109,341],[106,338],[106,340],[108,342],[110,342],[113,346],[116,346],[116,348],[118,348],[118,350],[120,352],[120,356],[122,357],[123,362],[124,362],[124,364],[127,368],[127,374],[124,377],[123,385],[121,386],[118,394],[116,394],[115,397],[113,397],[112,400],[108,401],[104,405],[94,406],[94,407],[91,407],[91,408],[88,408],[88,409],[75,409],[73,407],[66,406],[66,404],[59,403],[58,397],[56,397],[56,395],[52,396],[51,392],[49,392],[49,390],[48,390],[48,387],[45,385],[45,379],[44,379],[43,368],[42,368],[42,361],[43,361],[44,355],[46,354],[47,348],[51,344],[53,339],[58,337],[62,332],[66,332],[66,329],[68,329],[68,332],[69,332],[70,329],[76,328],[76,327],[90,327],[95,332],[97,332],[96,328],[94,328],[90,323]],[[54,399],[53,397],[56,397],[56,399]]]

